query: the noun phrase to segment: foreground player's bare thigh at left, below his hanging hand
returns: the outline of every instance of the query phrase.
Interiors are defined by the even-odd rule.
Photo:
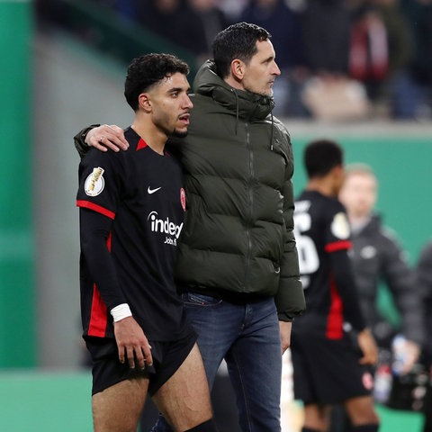
[[[130,432],[137,428],[148,391],[148,378],[116,383],[92,397],[94,432]]]

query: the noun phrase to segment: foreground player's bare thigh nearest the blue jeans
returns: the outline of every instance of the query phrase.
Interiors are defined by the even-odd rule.
[[[187,430],[211,419],[209,384],[196,344],[153,401],[175,430]]]

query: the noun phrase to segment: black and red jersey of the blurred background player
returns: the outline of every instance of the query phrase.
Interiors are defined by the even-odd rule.
[[[326,338],[343,337],[349,321],[365,327],[347,250],[350,229],[344,206],[335,198],[304,191],[295,202],[294,230],[306,312],[295,329],[317,331]]]

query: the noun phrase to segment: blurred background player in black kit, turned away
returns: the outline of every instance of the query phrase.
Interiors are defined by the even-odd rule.
[[[337,196],[343,152],[320,139],[304,150],[308,184],[295,202],[294,226],[306,313],[293,326],[294,396],[304,403],[303,432],[329,430],[331,406],[342,403],[355,432],[376,432],[379,419],[367,365],[377,348],[360,311],[347,250],[349,225]],[[356,343],[344,324],[356,331]]]

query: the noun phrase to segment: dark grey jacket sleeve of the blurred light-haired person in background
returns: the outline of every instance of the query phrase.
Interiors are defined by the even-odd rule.
[[[388,233],[383,233],[382,274],[397,309],[401,313],[402,332],[413,342],[422,344],[426,338],[421,293],[415,283],[415,273],[410,268],[400,244]]]

